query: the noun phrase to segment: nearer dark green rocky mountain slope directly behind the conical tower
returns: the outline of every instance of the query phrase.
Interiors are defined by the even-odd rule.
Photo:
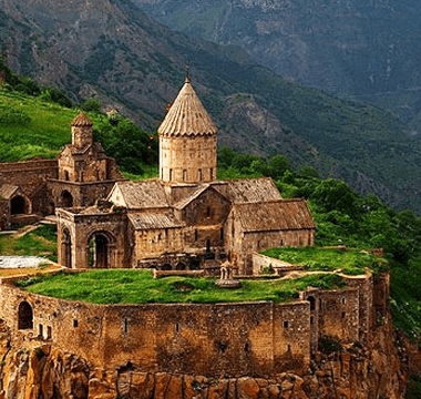
[[[0,0],[0,41],[14,71],[76,101],[96,95],[150,130],[191,65],[222,144],[281,152],[360,193],[421,211],[421,146],[392,113],[288,82],[239,48],[154,22],[130,0]]]

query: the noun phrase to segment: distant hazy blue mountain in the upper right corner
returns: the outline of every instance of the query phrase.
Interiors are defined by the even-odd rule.
[[[421,132],[415,0],[134,0],[172,29],[238,45],[295,82],[396,112]]]

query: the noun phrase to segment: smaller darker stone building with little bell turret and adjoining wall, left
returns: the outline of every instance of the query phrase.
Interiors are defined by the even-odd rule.
[[[58,160],[0,164],[0,229],[53,214],[55,207],[92,205],[122,180],[115,160],[93,142],[86,115],[79,114],[71,127],[72,143]]]

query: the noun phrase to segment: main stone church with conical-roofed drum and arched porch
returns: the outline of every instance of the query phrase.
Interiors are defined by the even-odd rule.
[[[160,178],[120,181],[101,206],[57,211],[62,265],[213,273],[228,257],[245,275],[256,250],[314,244],[305,200],[283,200],[270,178],[217,181],[217,129],[188,78],[158,134]]]

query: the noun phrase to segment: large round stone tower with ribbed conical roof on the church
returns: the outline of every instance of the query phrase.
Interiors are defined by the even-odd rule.
[[[162,181],[199,183],[216,180],[217,127],[188,75],[158,134]]]

